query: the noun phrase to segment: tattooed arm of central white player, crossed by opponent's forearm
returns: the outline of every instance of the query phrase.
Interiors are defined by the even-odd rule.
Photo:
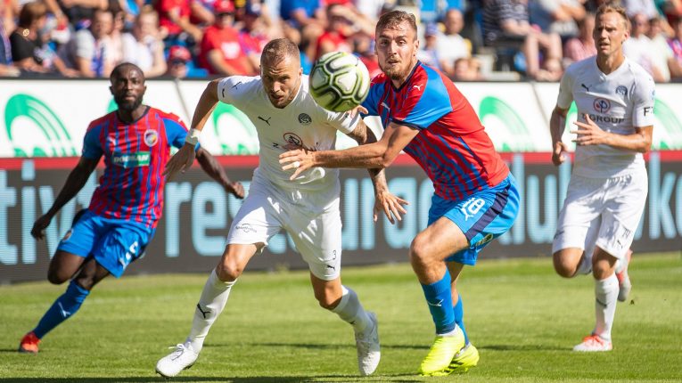
[[[355,130],[348,135],[358,145],[376,143],[374,132],[369,126],[366,126],[362,119],[357,123]],[[386,183],[386,173],[382,168],[368,168],[367,172],[370,179],[372,179],[372,184],[374,184],[374,222],[379,219],[382,212],[391,224],[395,224],[396,220],[402,221],[402,215],[407,213],[403,205],[409,205],[409,202],[389,191],[389,186]]]

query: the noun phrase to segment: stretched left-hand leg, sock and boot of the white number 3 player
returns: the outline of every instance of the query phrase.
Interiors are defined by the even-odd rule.
[[[251,257],[263,247],[262,243],[227,245],[218,266],[210,273],[208,281],[201,291],[199,303],[194,310],[192,329],[185,343],[172,347],[175,350],[156,363],[156,371],[166,378],[174,377],[193,366],[210,327],[216,322],[226,306],[230,290],[237,281]]]

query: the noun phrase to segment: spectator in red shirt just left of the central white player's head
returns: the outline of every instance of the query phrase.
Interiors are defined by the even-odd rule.
[[[201,39],[199,65],[208,69],[210,74],[224,76],[253,75],[248,56],[239,44],[239,34],[229,24],[234,20],[234,5],[228,0],[219,0],[215,4],[216,24],[204,31]],[[218,52],[225,64],[225,69],[214,67],[209,56]]]

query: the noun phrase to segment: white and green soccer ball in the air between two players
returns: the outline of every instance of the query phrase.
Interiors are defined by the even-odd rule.
[[[355,55],[330,52],[310,70],[309,92],[326,110],[347,111],[365,101],[369,81],[367,67]]]

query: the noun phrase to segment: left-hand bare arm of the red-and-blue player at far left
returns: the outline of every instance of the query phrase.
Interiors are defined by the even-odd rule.
[[[100,159],[86,159],[81,157],[78,160],[78,165],[71,170],[71,173],[66,178],[66,182],[62,187],[62,190],[57,195],[57,199],[54,200],[52,208],[47,210],[45,215],[40,216],[31,228],[31,235],[37,240],[42,240],[44,237],[44,230],[50,225],[52,218],[59,210],[61,210],[67,202],[69,202],[73,197],[83,189],[87,182],[87,178],[93,173],[94,168],[97,167]]]

